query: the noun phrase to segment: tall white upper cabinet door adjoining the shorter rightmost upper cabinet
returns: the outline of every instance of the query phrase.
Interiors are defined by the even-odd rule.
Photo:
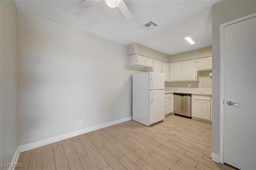
[[[182,80],[196,80],[196,60],[182,62]]]

